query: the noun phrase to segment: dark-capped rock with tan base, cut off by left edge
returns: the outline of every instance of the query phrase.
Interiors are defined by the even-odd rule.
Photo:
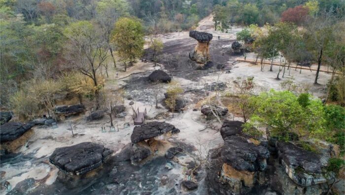
[[[8,153],[14,152],[23,146],[34,134],[31,129],[35,122],[7,122],[0,126],[0,148]]]

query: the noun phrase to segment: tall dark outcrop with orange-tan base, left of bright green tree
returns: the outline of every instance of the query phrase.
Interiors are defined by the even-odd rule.
[[[270,152],[267,141],[260,140],[254,144],[252,137],[242,132],[241,121],[224,121],[220,133],[224,145],[214,149],[211,158],[215,168],[208,173],[210,190],[216,194],[247,194],[255,183],[260,183],[267,169]],[[214,180],[214,181],[212,181]]]

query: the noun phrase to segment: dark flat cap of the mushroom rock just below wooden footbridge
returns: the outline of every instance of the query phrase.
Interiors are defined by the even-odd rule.
[[[131,135],[131,141],[132,143],[138,143],[170,131],[172,134],[180,132],[180,130],[175,128],[175,126],[166,122],[148,122],[146,124],[134,127]]]

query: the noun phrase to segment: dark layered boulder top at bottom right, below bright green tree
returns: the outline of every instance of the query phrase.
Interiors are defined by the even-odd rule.
[[[286,174],[300,186],[327,183],[335,179],[333,172],[327,172],[332,147],[316,147],[318,153],[304,150],[292,142],[276,142],[279,162]]]

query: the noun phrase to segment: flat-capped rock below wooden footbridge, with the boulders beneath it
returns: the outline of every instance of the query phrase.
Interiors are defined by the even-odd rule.
[[[166,122],[148,122],[134,127],[131,135],[133,144],[130,149],[132,164],[138,164],[146,157],[155,153],[157,150],[157,141],[165,140],[178,132],[180,132],[179,129]],[[180,149],[169,149],[167,156],[171,157],[171,155],[177,154],[178,151],[180,151]]]

